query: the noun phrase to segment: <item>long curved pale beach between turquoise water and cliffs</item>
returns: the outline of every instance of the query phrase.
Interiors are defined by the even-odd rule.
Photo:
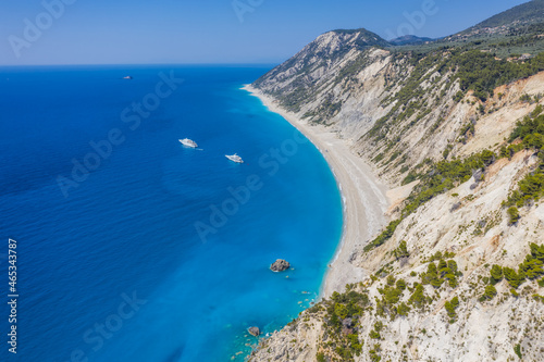
[[[387,187],[336,133],[321,125],[309,125],[251,85],[245,85],[242,89],[260,99],[269,111],[280,114],[302,133],[321,152],[336,179],[343,208],[342,237],[323,277],[319,298],[331,297],[333,291],[343,291],[346,284],[361,282],[367,273],[354,266],[349,259],[354,251],[362,249],[385,225],[384,214],[391,203],[386,197]]]

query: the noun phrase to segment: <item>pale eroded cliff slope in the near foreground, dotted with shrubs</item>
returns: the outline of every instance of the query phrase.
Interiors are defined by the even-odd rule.
[[[500,204],[536,162],[532,153],[523,151],[510,161],[500,160],[485,173],[485,180],[477,184],[471,178],[429,201],[404,220],[381,248],[368,253],[354,251],[355,265],[374,275],[386,270],[387,275],[404,280],[408,287],[396,305],[410,305],[406,315],[379,312],[391,309],[378,302],[384,296],[385,277],[369,277],[354,286],[353,290],[369,297],[368,307],[353,324],[362,346],[359,355],[353,354],[355,361],[376,361],[376,355],[382,361],[517,361],[516,346],[524,361],[541,360],[544,303],[534,296],[544,295],[544,288],[536,280],[524,282],[517,290],[519,295],[514,296],[512,287],[503,278],[495,285],[497,295],[491,301],[480,300],[492,265],[517,269],[530,253],[530,242],[542,245],[544,240],[542,205],[522,210],[521,221],[511,226]],[[395,251],[403,241],[407,253],[397,259]],[[429,260],[436,252],[456,262],[460,273],[457,285],[424,285],[424,305],[410,304],[415,286],[421,284],[421,275],[428,272]],[[445,303],[456,297],[459,305],[452,322]],[[250,361],[301,362],[318,361],[318,353],[337,355],[327,353],[342,344],[332,337],[335,332],[324,327],[331,319],[326,308],[305,311],[263,340]],[[379,338],[372,334],[376,324],[382,325]],[[349,330],[341,334],[345,338]]]

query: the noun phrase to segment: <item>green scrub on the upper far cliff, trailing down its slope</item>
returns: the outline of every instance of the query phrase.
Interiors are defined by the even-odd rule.
[[[440,49],[432,52],[399,52],[396,59],[406,59],[412,66],[403,87],[393,97],[386,99],[384,104],[394,104],[388,113],[378,120],[367,136],[370,139],[381,140],[391,135],[392,127],[405,120],[417,115],[409,124],[412,126],[429,114],[433,104],[425,97],[436,92],[437,99],[444,98],[447,90],[458,80],[460,91],[454,100],[459,102],[468,90],[482,101],[493,95],[493,89],[510,82],[527,78],[544,70],[544,53],[527,61],[506,61],[493,54],[475,49],[452,48]],[[444,89],[440,91],[442,77],[448,77]],[[431,82],[430,88],[422,85]]]

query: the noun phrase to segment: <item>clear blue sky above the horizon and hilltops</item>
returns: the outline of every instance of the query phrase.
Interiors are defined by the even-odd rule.
[[[523,2],[3,0],[0,65],[279,63],[331,29],[364,27],[384,38],[407,30],[441,37]],[[44,3],[57,3],[57,10],[62,3],[63,13],[47,15]],[[405,14],[422,14],[425,5],[428,15],[410,24]],[[42,28],[38,34],[32,32],[36,25]]]

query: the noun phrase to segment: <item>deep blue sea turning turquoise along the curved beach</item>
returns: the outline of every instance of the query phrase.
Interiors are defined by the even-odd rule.
[[[240,89],[269,68],[0,68],[0,361],[243,361],[248,327],[310,305],[341,196],[313,145]],[[272,273],[277,258],[294,270]]]

